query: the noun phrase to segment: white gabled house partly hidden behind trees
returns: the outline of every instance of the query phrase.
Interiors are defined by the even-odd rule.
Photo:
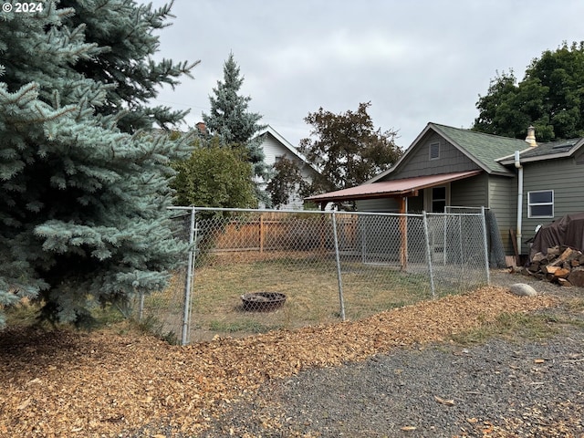
[[[286,158],[295,162],[307,183],[312,183],[315,175],[318,173],[316,168],[311,166],[307,159],[297,149],[282,137],[274,128],[267,125],[266,129],[261,130],[257,137],[262,138],[262,148],[264,150],[265,162],[272,167],[276,162]],[[264,183],[263,188],[266,188]],[[286,205],[280,205],[281,210],[301,210],[304,200],[298,193],[294,193]]]

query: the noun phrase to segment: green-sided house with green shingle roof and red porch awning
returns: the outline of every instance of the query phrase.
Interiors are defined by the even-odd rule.
[[[526,241],[538,224],[584,212],[583,144],[584,139],[537,144],[531,127],[523,141],[428,123],[390,170],[307,200],[355,201],[368,212],[485,206],[495,214],[506,255],[527,255]]]

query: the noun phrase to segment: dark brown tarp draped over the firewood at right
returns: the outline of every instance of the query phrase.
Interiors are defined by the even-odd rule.
[[[547,248],[557,245],[584,250],[584,213],[567,214],[539,228],[533,239],[529,258],[533,258],[537,253],[546,255]]]

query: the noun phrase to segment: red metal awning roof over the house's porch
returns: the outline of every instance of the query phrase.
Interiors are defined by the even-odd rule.
[[[365,183],[357,187],[308,196],[306,201],[315,203],[334,203],[339,201],[356,201],[358,199],[395,198],[415,196],[418,190],[433,187],[439,184],[463,180],[483,171],[468,171],[442,173],[438,175],[416,176],[401,180],[381,181],[379,183]]]

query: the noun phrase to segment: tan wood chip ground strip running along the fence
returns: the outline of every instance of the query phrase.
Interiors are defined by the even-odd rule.
[[[0,333],[0,436],[198,436],[270,382],[441,342],[504,313],[562,303],[558,294],[516,297],[506,287],[483,287],[360,321],[188,347],[121,328],[8,328]],[[235,436],[289,436],[274,424],[266,424],[272,432]]]

